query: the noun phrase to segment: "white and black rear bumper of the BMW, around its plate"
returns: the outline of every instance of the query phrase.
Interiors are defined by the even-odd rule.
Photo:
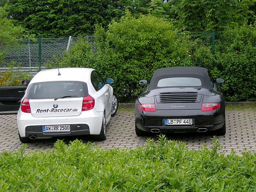
[[[83,111],[79,116],[33,117],[31,113],[20,112],[17,124],[20,137],[62,137],[77,135],[98,135],[102,127],[103,112],[94,109]],[[43,132],[43,125],[70,125],[68,132]]]

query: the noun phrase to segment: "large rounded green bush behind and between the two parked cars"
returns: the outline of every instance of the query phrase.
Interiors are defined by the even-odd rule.
[[[120,102],[134,102],[143,90],[138,81],[150,79],[154,70],[189,64],[188,37],[180,36],[171,22],[151,15],[135,18],[127,12],[107,32],[98,26],[95,36],[95,55],[87,42],[80,41],[58,65],[93,67],[112,78]]]

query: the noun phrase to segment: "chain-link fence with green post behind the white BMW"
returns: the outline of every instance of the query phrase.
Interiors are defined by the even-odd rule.
[[[23,39],[19,41],[19,46],[15,49],[10,49],[8,54],[0,62],[0,69],[7,67],[7,64],[14,63],[23,69],[30,71],[38,71],[44,68],[47,63],[55,62],[54,57],[59,57],[64,51],[67,51],[72,45],[78,42],[79,38],[86,38],[92,44],[95,37],[38,37],[33,39]]]

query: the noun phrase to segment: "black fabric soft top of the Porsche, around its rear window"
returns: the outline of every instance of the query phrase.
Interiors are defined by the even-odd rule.
[[[170,77],[193,77],[201,80],[202,85],[200,88],[206,88],[211,90],[212,83],[208,76],[208,70],[203,67],[165,67],[155,70],[148,90],[153,90],[161,87],[157,87],[157,83],[160,79]],[[162,87],[163,88],[163,87]]]

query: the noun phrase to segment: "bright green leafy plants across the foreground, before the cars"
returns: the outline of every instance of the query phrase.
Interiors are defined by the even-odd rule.
[[[255,191],[256,154],[224,154],[212,147],[191,150],[160,136],[143,148],[99,149],[58,140],[55,150],[0,153],[2,191]]]

